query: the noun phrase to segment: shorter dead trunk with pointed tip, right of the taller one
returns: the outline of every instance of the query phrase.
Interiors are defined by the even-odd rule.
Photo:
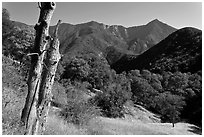
[[[45,130],[45,124],[47,123],[47,115],[50,109],[50,103],[52,101],[52,85],[54,83],[55,72],[57,70],[58,62],[61,58],[59,52],[59,40],[58,40],[58,27],[61,20],[58,21],[54,36],[50,41],[50,46],[47,50],[47,56],[45,60],[46,67],[42,73],[42,82],[40,86],[39,94],[39,107],[37,110],[38,121],[36,127],[39,127],[38,133],[43,134]],[[37,129],[37,128],[36,128]]]

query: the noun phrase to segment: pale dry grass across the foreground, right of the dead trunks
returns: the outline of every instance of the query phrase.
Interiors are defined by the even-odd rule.
[[[142,112],[143,113],[143,112]],[[142,114],[141,113],[141,114]],[[147,112],[149,113],[149,112]],[[57,126],[56,126],[57,125]],[[52,135],[195,135],[201,130],[188,123],[147,123],[141,119],[97,117],[84,126],[65,123],[62,118],[49,113],[45,134]]]

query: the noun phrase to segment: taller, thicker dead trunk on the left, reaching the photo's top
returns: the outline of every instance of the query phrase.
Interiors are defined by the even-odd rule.
[[[28,94],[25,106],[22,111],[21,121],[25,124],[27,133],[36,134],[38,95],[41,84],[41,74],[43,70],[43,60],[45,56],[46,46],[49,41],[49,24],[53,15],[56,4],[54,2],[42,2],[39,4],[40,17],[35,25],[36,36],[32,49],[31,67],[28,77]]]

